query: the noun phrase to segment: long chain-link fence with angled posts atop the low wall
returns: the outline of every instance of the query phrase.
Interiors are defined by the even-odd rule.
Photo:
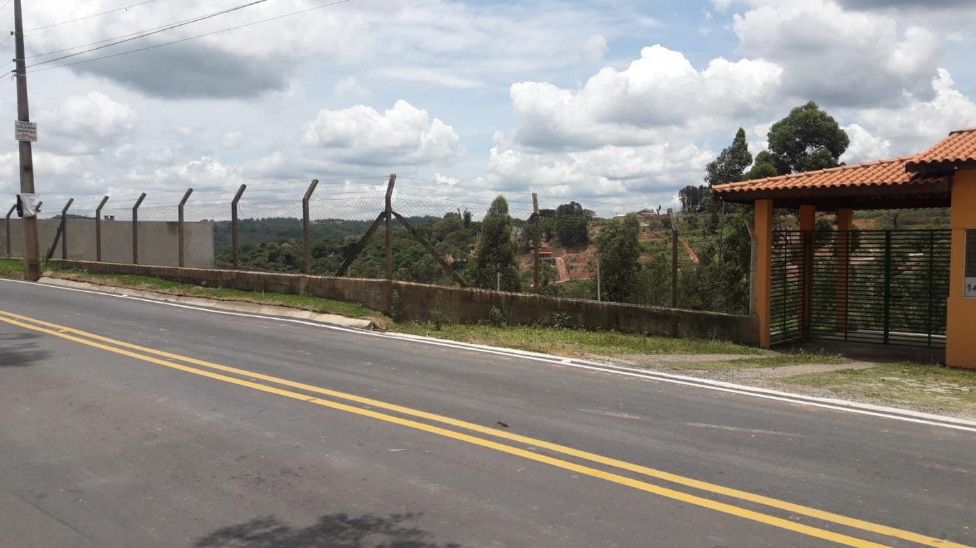
[[[47,211],[58,235],[42,237],[42,254],[55,257],[749,312],[747,211],[601,218],[569,198],[535,204],[532,195],[395,176],[87,198],[63,219]]]

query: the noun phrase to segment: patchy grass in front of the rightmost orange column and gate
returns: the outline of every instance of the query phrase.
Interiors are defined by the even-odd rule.
[[[853,397],[935,411],[976,413],[976,371],[915,363],[801,374],[780,379]]]

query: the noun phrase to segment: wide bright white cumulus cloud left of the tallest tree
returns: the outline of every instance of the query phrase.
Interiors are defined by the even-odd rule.
[[[605,67],[573,92],[545,82],[509,90],[517,139],[537,149],[588,149],[660,140],[697,119],[750,117],[768,108],[782,70],[761,59],[712,59],[697,70],[680,52],[644,48],[625,70]]]

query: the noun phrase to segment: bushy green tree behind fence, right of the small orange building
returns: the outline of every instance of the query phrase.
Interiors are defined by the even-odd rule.
[[[596,236],[600,290],[607,300],[631,302],[640,294],[640,219],[630,214],[607,223]]]

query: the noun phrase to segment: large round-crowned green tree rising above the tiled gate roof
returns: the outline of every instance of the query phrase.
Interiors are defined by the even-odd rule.
[[[835,168],[850,144],[834,117],[812,100],[773,124],[767,137],[779,175]]]

